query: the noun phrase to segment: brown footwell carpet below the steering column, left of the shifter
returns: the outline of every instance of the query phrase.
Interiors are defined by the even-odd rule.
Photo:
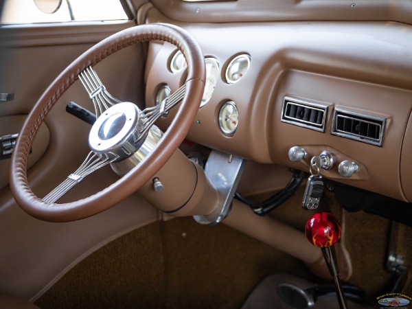
[[[177,218],[133,231],[75,266],[43,308],[240,308],[268,273],[308,271],[225,225]]]

